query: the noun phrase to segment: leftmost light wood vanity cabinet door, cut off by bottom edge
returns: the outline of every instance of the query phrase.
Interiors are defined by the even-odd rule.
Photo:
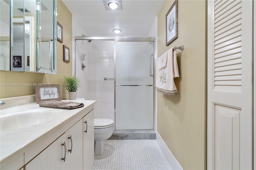
[[[65,162],[62,160],[65,156],[65,138],[60,136],[50,146],[43,150],[38,156],[26,164],[26,170],[56,170],[65,169]],[[66,145],[66,142],[65,142]]]

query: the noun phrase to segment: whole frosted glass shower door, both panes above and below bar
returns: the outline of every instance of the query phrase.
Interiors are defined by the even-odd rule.
[[[116,41],[116,130],[154,128],[154,42]]]

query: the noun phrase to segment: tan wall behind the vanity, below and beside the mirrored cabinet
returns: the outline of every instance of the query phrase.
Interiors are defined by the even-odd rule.
[[[57,41],[57,74],[18,73],[0,71],[0,83],[52,83],[62,84],[64,75],[72,75],[72,14],[61,0],[57,0],[57,21],[63,26],[63,43]],[[70,63],[63,61],[63,45],[70,48]],[[0,98],[34,95],[35,87],[0,86]],[[62,99],[69,99],[68,93],[62,88]]]

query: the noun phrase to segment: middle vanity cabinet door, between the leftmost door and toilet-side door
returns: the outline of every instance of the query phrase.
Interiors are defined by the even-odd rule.
[[[65,132],[67,146],[66,169],[83,169],[83,123],[82,119]]]

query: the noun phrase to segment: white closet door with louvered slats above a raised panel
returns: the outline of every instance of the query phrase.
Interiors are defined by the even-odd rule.
[[[252,0],[208,0],[208,169],[253,169]]]

